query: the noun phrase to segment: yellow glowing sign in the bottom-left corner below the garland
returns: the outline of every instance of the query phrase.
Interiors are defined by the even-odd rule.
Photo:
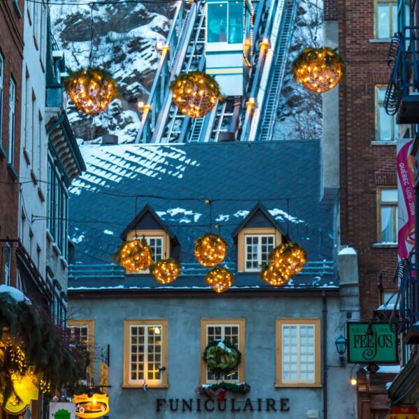
[[[7,413],[21,415],[26,411],[31,400],[38,400],[38,387],[32,381],[33,378],[34,376],[32,374],[27,374],[22,377],[18,377],[17,374],[12,375],[13,388],[18,397],[12,395],[8,398],[3,407]]]

